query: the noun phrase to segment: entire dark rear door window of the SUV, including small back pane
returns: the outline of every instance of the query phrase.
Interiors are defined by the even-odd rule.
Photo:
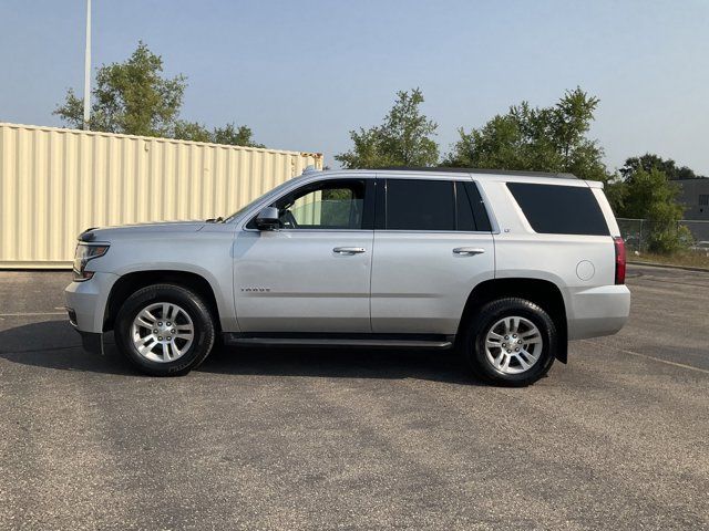
[[[386,222],[390,230],[489,231],[477,188],[459,180],[388,179]]]

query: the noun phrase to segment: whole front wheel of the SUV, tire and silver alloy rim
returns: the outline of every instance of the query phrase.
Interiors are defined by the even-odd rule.
[[[181,376],[209,354],[215,325],[205,302],[174,284],[155,284],[133,293],[116,316],[119,350],[152,376]]]

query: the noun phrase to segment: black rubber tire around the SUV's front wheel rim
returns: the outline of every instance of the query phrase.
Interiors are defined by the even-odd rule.
[[[137,314],[158,302],[178,305],[192,319],[194,326],[192,344],[174,361],[148,360],[137,351],[132,341],[133,321]],[[121,306],[114,329],[119,351],[141,372],[151,376],[182,376],[196,368],[212,352],[216,335],[214,317],[205,301],[196,293],[175,284],[154,284],[137,290]]]

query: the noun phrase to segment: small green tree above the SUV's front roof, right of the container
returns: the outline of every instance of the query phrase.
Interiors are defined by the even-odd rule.
[[[419,88],[400,91],[382,124],[350,131],[352,149],[335,156],[345,168],[387,166],[432,166],[439,147],[431,137],[438,125],[421,114],[423,94]]]

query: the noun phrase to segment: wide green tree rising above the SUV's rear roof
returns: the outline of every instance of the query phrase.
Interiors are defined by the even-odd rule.
[[[473,168],[572,173],[608,180],[603,148],[588,138],[599,100],[580,87],[566,91],[552,107],[513,105],[481,128],[461,128],[444,165]]]

